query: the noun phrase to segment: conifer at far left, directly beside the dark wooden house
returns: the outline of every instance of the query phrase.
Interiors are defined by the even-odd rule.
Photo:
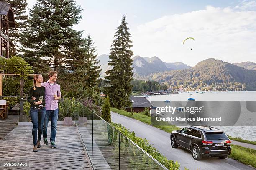
[[[21,38],[21,32],[26,30],[27,27],[27,20],[28,15],[26,15],[26,7],[27,2],[26,0],[3,0],[8,2],[10,6],[13,8],[14,18],[15,18],[15,26],[16,28],[10,27],[9,28],[9,40],[13,42],[13,45],[10,45],[9,48],[9,55],[10,57],[17,54],[19,51],[19,45]]]

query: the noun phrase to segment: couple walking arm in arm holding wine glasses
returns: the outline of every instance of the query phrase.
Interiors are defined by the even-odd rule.
[[[51,138],[50,144],[52,148],[56,148],[55,137],[58,120],[58,100],[61,98],[60,86],[56,83],[56,71],[48,73],[49,80],[43,83],[41,74],[34,75],[34,85],[29,89],[28,102],[30,103],[30,117],[32,120],[32,136],[34,148],[33,152],[37,152],[37,148],[41,147],[40,141],[43,133],[44,145],[49,145],[47,141],[47,126],[49,118],[51,118]],[[38,130],[38,134],[37,134]]]

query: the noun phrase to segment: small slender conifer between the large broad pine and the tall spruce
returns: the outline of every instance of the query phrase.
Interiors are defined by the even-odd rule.
[[[87,87],[95,87],[98,85],[98,78],[100,77],[100,65],[98,63],[100,60],[97,60],[96,47],[93,46],[94,42],[90,35],[86,38],[85,50],[87,51],[87,68],[86,68],[86,86]]]

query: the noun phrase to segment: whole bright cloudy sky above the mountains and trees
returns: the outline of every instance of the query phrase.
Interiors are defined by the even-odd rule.
[[[32,8],[36,0],[27,0]],[[134,56],[194,66],[207,58],[256,62],[256,1],[253,0],[77,0],[97,54],[109,54],[126,15]],[[194,40],[183,40],[193,37]],[[191,50],[192,49],[192,50]]]

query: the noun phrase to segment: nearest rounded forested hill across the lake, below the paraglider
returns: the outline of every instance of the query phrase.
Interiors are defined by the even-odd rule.
[[[256,70],[248,70],[214,58],[203,60],[188,69],[158,72],[151,77],[169,86],[256,90]]]

